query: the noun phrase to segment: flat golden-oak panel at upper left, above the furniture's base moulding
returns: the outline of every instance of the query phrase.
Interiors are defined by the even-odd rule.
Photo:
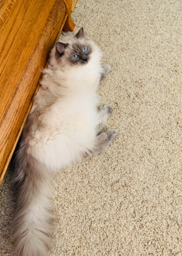
[[[0,28],[0,82],[1,85],[6,85],[3,86],[6,90],[0,90],[0,98],[3,99],[0,100],[0,118],[12,97],[53,4],[54,0],[16,1]],[[39,13],[39,10],[44,11]]]

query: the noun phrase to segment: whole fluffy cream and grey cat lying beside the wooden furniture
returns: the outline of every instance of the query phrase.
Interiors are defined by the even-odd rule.
[[[98,109],[96,90],[110,66],[80,28],[56,42],[16,153],[17,206],[14,219],[18,256],[46,256],[52,233],[49,184],[54,170],[106,151],[118,134],[101,130],[111,112]]]

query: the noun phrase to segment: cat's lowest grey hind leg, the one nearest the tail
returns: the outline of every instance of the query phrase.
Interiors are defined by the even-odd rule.
[[[95,137],[94,146],[89,150],[88,155],[94,156],[105,152],[109,144],[116,138],[118,130],[108,129]]]

